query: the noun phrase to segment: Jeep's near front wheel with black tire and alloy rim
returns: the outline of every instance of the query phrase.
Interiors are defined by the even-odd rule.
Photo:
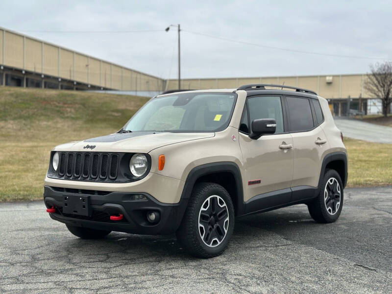
[[[226,249],[233,230],[234,206],[227,191],[215,183],[197,184],[176,232],[178,241],[191,255],[210,258]]]

